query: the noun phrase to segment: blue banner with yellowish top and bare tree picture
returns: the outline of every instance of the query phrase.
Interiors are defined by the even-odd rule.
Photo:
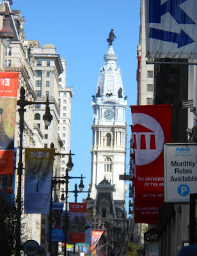
[[[54,156],[54,148],[25,149],[25,213],[49,214]]]

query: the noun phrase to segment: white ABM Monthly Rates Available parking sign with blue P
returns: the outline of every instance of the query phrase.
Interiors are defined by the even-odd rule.
[[[164,201],[189,202],[196,182],[197,143],[164,144]]]

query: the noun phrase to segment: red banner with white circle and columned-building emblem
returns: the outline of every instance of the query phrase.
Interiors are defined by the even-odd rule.
[[[171,105],[130,106],[136,200],[164,202],[163,144],[171,142]]]

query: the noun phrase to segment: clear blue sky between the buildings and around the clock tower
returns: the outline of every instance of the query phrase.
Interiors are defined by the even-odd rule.
[[[91,95],[96,93],[100,66],[104,65],[104,54],[108,50],[106,40],[111,29],[114,29],[116,38],[113,49],[118,55],[118,67],[122,70],[124,95],[128,96],[128,174],[129,106],[136,105],[137,99],[140,0],[13,0],[11,7],[12,10],[20,10],[20,17],[25,17],[26,40],[38,40],[41,47],[54,44],[56,52],[67,61],[67,86],[73,87],[70,149],[75,154],[72,157],[74,168],[69,175],[79,177],[83,174],[86,177],[83,180],[84,191],[88,190],[91,177]],[[78,185],[79,182],[78,179],[70,179],[69,190],[74,190],[74,184]],[[86,197],[86,193],[78,194],[77,202]],[[74,194],[70,193],[69,202],[72,201]]]

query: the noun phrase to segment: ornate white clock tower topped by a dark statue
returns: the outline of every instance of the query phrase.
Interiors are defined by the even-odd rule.
[[[114,202],[119,202],[120,209],[123,209],[125,182],[119,179],[119,175],[125,173],[127,97],[124,96],[121,72],[116,63],[117,55],[112,41],[108,42],[97,92],[92,95],[91,198],[97,200],[99,184],[108,184],[113,188]]]

